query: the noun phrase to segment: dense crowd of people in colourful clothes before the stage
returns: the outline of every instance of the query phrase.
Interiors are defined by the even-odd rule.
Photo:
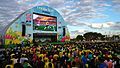
[[[120,68],[119,43],[66,43],[6,48],[0,68]]]

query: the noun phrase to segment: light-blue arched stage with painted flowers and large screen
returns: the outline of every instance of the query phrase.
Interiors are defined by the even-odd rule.
[[[64,19],[48,6],[36,6],[22,13],[4,29],[2,36],[4,44],[70,40]]]

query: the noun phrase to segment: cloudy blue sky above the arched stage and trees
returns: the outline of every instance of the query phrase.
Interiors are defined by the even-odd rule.
[[[63,16],[72,38],[86,32],[120,34],[120,0],[0,0],[0,30],[21,13],[41,5]]]

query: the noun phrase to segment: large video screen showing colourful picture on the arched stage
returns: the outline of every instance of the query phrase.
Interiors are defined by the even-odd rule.
[[[57,31],[57,18],[33,13],[33,29],[41,31]]]

